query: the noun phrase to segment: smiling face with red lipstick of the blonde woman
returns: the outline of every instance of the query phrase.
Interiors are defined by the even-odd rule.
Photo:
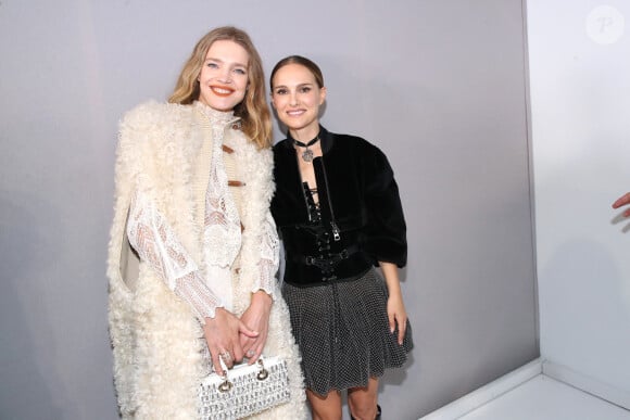
[[[212,43],[199,74],[199,101],[217,110],[232,111],[244,98],[249,81],[249,54],[235,41]]]

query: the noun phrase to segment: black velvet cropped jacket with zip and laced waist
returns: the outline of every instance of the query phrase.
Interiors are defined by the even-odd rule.
[[[313,160],[320,217],[302,186],[293,140],[274,147],[272,213],[285,246],[285,281],[317,285],[361,277],[378,262],[406,264],[406,225],[386,155],[366,140],[319,127]]]

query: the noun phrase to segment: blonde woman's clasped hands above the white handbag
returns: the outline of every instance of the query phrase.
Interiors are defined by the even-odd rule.
[[[272,297],[259,291],[240,318],[225,308],[216,308],[214,318],[205,318],[203,333],[218,374],[224,374],[219,358],[228,369],[244,357],[250,365],[257,360],[267,341],[272,304]]]

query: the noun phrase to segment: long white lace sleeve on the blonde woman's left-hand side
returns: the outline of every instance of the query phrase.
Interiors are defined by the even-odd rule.
[[[203,323],[214,318],[215,309],[223,303],[210,290],[199,267],[175,237],[175,232],[153,203],[136,192],[127,220],[129,243],[140,258],[147,262],[168,288],[188,302]]]

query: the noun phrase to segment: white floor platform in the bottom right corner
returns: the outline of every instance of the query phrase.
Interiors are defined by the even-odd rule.
[[[539,374],[458,419],[630,420],[630,411]]]

